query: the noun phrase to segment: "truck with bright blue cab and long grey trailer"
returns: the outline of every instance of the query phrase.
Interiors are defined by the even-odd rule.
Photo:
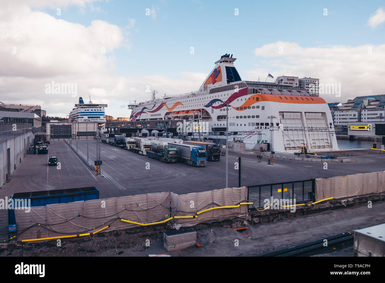
[[[178,143],[169,143],[168,145],[176,147],[178,161],[191,164],[192,166],[207,166],[207,151],[204,147]]]

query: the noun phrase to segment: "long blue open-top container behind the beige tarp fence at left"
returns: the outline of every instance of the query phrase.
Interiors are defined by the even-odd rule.
[[[8,200],[9,238],[12,238],[13,235],[17,234],[15,208],[20,209],[26,208],[27,206],[46,206],[47,204],[55,203],[73,203],[75,201],[89,201],[92,199],[99,199],[99,190],[95,187],[14,193]],[[10,207],[11,204],[12,206]]]

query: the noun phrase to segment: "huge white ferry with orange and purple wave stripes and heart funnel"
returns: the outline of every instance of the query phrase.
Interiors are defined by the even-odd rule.
[[[233,55],[221,56],[196,92],[165,95],[162,99],[153,95],[147,102],[130,104],[130,121],[199,117],[211,129],[206,139],[224,139],[218,134],[226,133],[227,104],[228,141],[242,141],[246,149],[270,143],[271,134],[273,150],[278,152],[298,152],[303,146],[309,151],[338,149],[336,136],[331,133],[334,125],[330,109],[316,92],[299,86],[294,77],[274,83],[242,80],[234,67],[235,60]]]

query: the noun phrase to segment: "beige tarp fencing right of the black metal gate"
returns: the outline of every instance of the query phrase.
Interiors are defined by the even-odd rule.
[[[315,180],[316,201],[385,191],[385,171]]]

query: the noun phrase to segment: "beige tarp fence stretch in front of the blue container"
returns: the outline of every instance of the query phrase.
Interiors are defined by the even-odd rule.
[[[30,213],[25,213],[24,210],[15,210],[18,233],[33,224],[41,224],[27,229],[18,236],[18,239],[63,235],[63,233],[58,232],[65,232],[68,235],[88,233],[107,225],[110,225],[110,228],[105,231],[125,226],[136,226],[120,221],[120,217],[139,223],[155,222],[163,219],[170,212],[170,194],[169,192],[152,193],[50,204],[32,207]]]

